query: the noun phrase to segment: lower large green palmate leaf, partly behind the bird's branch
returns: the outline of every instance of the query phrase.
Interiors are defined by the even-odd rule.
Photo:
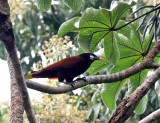
[[[146,54],[144,55],[144,52],[146,52],[149,47],[149,45],[146,44],[150,44],[151,37],[145,39],[145,41],[142,43],[141,42],[142,36],[140,32],[136,30],[137,26],[138,22],[131,24],[131,35],[129,39],[126,38],[124,35],[115,34],[120,51],[120,60],[118,64],[111,70],[111,73],[122,71],[128,67],[133,66],[134,64],[139,63],[145,58]],[[127,40],[130,40],[130,42],[128,42]],[[143,45],[145,45],[146,47],[144,47]],[[139,85],[141,85],[144,82],[147,72],[148,71],[145,70],[130,78],[130,83],[129,83],[130,93],[133,92]],[[107,105],[110,109],[112,110],[115,109],[117,97],[124,84],[125,80],[111,84],[110,83],[104,84],[102,91],[102,99],[105,105]],[[112,89],[112,91],[110,89]],[[135,112],[138,114],[143,113],[145,111],[146,104],[147,104],[147,99],[146,97],[144,97],[139,102]]]

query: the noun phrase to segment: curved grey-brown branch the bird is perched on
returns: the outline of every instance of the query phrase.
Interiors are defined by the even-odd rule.
[[[158,68],[159,65],[153,62],[153,58],[158,54],[159,51],[160,51],[160,40],[157,41],[155,46],[148,53],[146,59],[143,60],[142,62],[117,73],[107,74],[107,75],[88,76],[86,77],[86,80],[88,81],[89,84],[112,83],[112,82],[126,79],[147,68]],[[65,85],[61,87],[49,87],[49,86],[42,85],[30,80],[26,80],[26,84],[31,89],[49,93],[49,94],[66,93],[86,85],[86,83],[82,80],[79,80],[75,83],[75,88],[72,88],[72,86],[69,86],[69,85]]]

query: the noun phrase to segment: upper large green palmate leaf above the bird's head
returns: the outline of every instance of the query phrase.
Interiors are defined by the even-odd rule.
[[[104,39],[106,59],[108,62],[116,64],[120,58],[120,55],[117,41],[115,40],[115,33],[113,31],[116,30],[116,25],[121,16],[133,5],[135,5],[135,2],[133,1],[130,3],[113,2],[110,10],[94,8],[87,9],[80,18],[78,25],[79,29],[72,30],[79,32],[78,41],[81,48],[85,52],[94,52],[98,43]],[[59,32],[63,32],[61,31],[63,26],[64,25],[62,24]],[[75,27],[73,23],[72,27]],[[67,30],[68,32],[71,31],[70,28],[71,25],[65,25],[66,31],[58,35],[62,36],[67,32]],[[128,30],[128,28],[122,29],[125,30],[125,32]]]

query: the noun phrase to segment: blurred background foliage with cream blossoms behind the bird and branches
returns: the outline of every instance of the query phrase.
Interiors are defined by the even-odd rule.
[[[9,0],[11,9],[11,20],[13,23],[15,42],[24,74],[31,69],[40,69],[50,63],[64,57],[76,55],[82,51],[78,47],[76,34],[68,33],[63,39],[57,39],[57,31],[60,25],[81,14],[89,7],[107,8],[112,0],[82,0],[80,11],[72,11],[63,4],[63,0],[52,0],[52,5],[47,12],[40,12],[32,0]],[[122,0],[121,0],[122,1]],[[138,0],[134,9],[144,5],[154,5],[158,0]],[[147,11],[139,11],[136,16]],[[124,20],[132,20],[130,14],[123,17]],[[147,19],[146,19],[147,21]],[[55,43],[56,42],[56,43]],[[48,47],[49,46],[49,47]],[[2,44],[0,44],[0,58],[6,60]],[[98,72],[106,74],[109,69]],[[89,75],[88,72],[82,76]],[[47,81],[45,84],[59,86],[55,80]],[[108,120],[114,112],[109,110],[101,100],[101,85],[89,85],[79,90],[79,93],[70,92],[62,95],[41,94],[41,100],[32,101],[38,120],[41,123],[54,122],[101,122]],[[128,123],[135,123],[154,110],[160,108],[159,90],[160,84],[156,83],[148,96],[147,110],[141,114],[133,114]],[[125,86],[118,98],[119,104],[125,97],[128,86]],[[155,93],[155,91],[157,93]],[[0,106],[0,122],[9,122],[9,106],[6,103]],[[28,122],[25,120],[25,122]]]

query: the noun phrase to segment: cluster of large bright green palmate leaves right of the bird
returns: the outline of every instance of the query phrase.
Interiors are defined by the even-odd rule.
[[[133,5],[135,3],[132,1],[128,3],[114,1],[111,3],[110,10],[89,8],[80,18],[75,17],[64,22],[59,28],[58,35],[61,37],[67,32],[78,32],[80,47],[85,52],[94,52],[99,42],[102,41],[103,46],[98,45],[98,47],[104,47],[103,50],[107,61],[115,65],[111,73],[122,71],[141,62],[150,48],[152,48],[153,31],[148,34],[148,37],[146,36],[145,39],[142,39],[142,34],[138,30],[140,27],[138,21],[129,26],[120,20],[120,17]],[[155,31],[157,30],[155,29]],[[143,37],[146,34],[146,31],[144,32]],[[106,62],[99,64],[99,67],[97,65],[95,67],[96,69],[101,67],[99,70],[102,70],[108,66],[109,64]],[[95,70],[94,67],[91,69]],[[96,70],[96,72],[98,71]],[[102,90],[102,99],[106,106],[114,110],[118,95],[125,82],[129,80],[128,94],[130,94],[144,82],[147,72],[148,70],[145,70],[130,77],[130,79],[105,84]],[[143,113],[146,109],[146,104],[147,97],[144,97],[137,106],[136,113]]]

